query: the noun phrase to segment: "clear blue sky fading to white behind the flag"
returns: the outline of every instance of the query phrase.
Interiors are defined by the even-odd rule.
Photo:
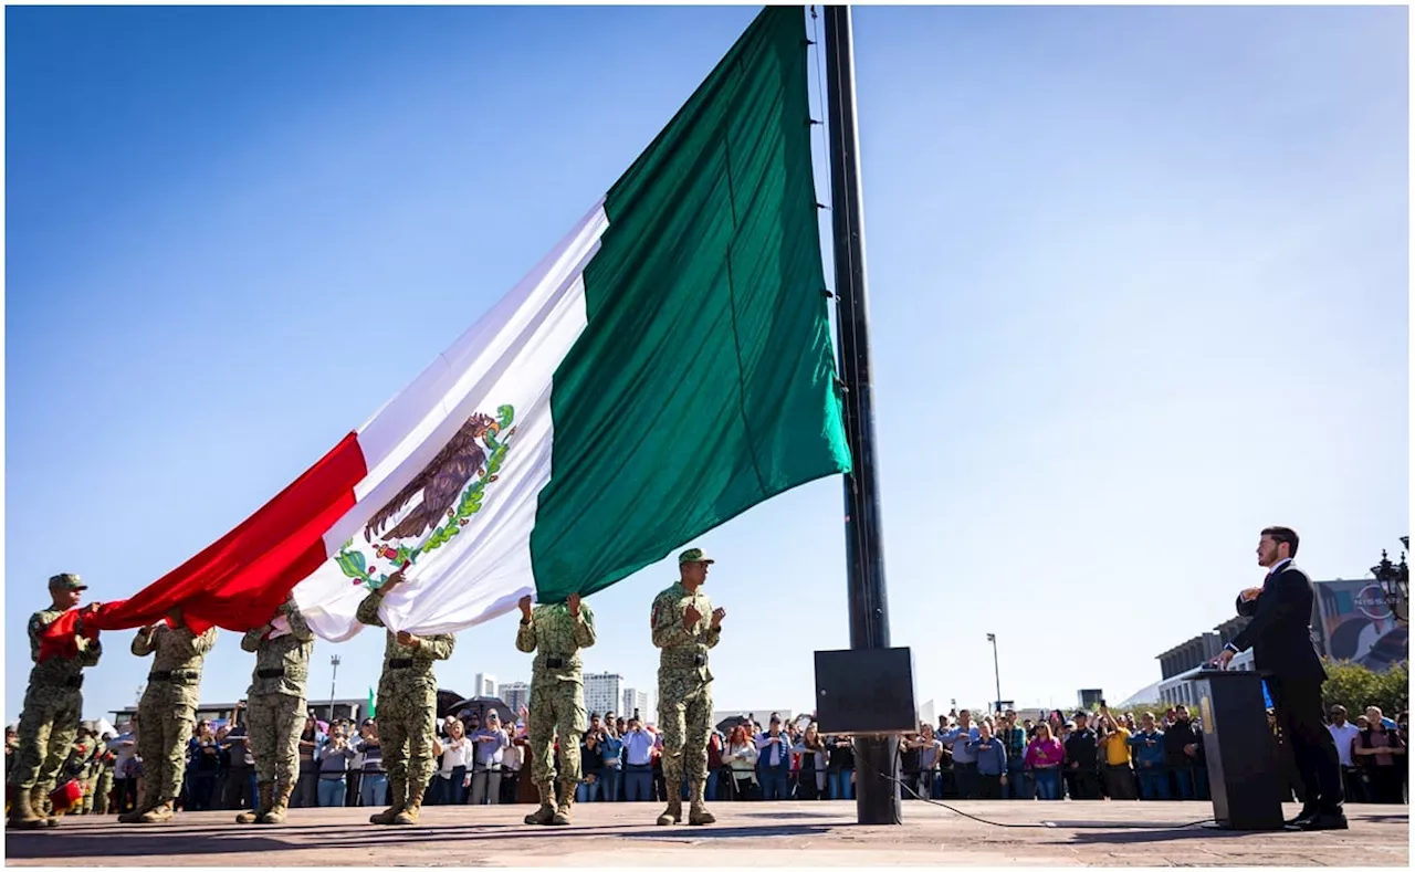
[[[120,599],[399,391],[754,8],[6,10],[6,694],[44,582]],[[1119,699],[1261,580],[1409,528],[1404,8],[857,8],[893,641],[918,701]],[[814,59],[814,58],[812,58]],[[822,139],[818,134],[818,146]],[[841,483],[703,537],[719,708],[848,646]],[[652,688],[649,568],[586,670]],[[515,617],[439,668],[528,678]],[[129,705],[130,631],[85,688]],[[310,689],[376,684],[382,634]],[[202,695],[245,692],[226,633]]]

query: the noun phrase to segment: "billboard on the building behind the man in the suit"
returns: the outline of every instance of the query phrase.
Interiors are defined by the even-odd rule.
[[[1409,630],[1397,623],[1374,579],[1317,582],[1316,595],[1323,654],[1377,671],[1408,657]]]

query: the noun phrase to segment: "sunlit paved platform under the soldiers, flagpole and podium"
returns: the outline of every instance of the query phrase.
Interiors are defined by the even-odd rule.
[[[529,805],[430,807],[419,827],[362,808],[297,808],[282,827],[233,813],[171,824],[78,817],[7,831],[11,866],[1407,866],[1409,807],[1350,805],[1341,832],[1182,828],[1207,803],[904,804],[900,827],[859,827],[853,803],[717,803],[712,827],[654,827],[658,805],[576,807],[573,827],[526,827]],[[1290,807],[1296,814],[1298,807]]]

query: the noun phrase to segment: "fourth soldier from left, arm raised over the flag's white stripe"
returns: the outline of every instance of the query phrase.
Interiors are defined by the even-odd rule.
[[[402,582],[402,570],[388,576],[382,587],[358,604],[358,620],[382,627],[378,607],[388,592]],[[383,675],[378,681],[378,733],[383,746],[383,767],[388,769],[389,807],[369,815],[372,824],[417,822],[423,791],[436,769],[437,678],[433,661],[451,657],[456,643],[451,633],[413,636],[406,630],[388,631]]]

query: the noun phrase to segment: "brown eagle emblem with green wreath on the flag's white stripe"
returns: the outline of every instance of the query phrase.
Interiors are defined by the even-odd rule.
[[[471,415],[437,456],[374,512],[364,525],[364,544],[355,545],[354,538],[344,544],[335,558],[344,575],[354,585],[381,587],[395,570],[461,532],[497,480],[516,432],[514,422],[511,406],[499,406],[495,418]],[[388,565],[381,568],[376,561]]]

